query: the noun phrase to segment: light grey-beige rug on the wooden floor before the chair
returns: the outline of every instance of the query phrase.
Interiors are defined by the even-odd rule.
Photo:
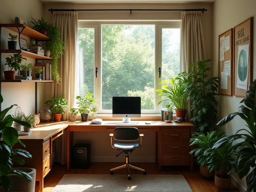
[[[117,191],[192,191],[183,175],[64,175],[53,192],[117,192]]]

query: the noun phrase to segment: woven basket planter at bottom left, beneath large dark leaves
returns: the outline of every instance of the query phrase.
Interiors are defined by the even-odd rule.
[[[11,184],[9,186],[8,191],[25,191],[25,192],[34,192],[35,191],[35,185],[36,185],[36,169],[32,168],[26,168],[26,167],[15,167],[12,170],[20,170],[23,172],[28,173],[32,177],[32,181],[25,180],[15,174],[12,174],[12,171],[8,175],[10,178]],[[1,182],[1,180],[0,180]],[[2,191],[3,188],[0,187],[0,191]]]

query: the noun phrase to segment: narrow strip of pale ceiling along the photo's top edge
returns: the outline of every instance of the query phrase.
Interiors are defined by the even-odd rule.
[[[215,0],[41,0],[44,3],[212,3]]]

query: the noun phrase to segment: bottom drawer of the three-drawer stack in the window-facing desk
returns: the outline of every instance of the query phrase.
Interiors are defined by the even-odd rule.
[[[163,165],[189,165],[189,154],[162,154]]]

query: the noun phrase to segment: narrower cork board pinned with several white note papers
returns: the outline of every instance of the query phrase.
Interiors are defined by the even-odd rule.
[[[219,35],[219,94],[233,95],[233,28]]]

